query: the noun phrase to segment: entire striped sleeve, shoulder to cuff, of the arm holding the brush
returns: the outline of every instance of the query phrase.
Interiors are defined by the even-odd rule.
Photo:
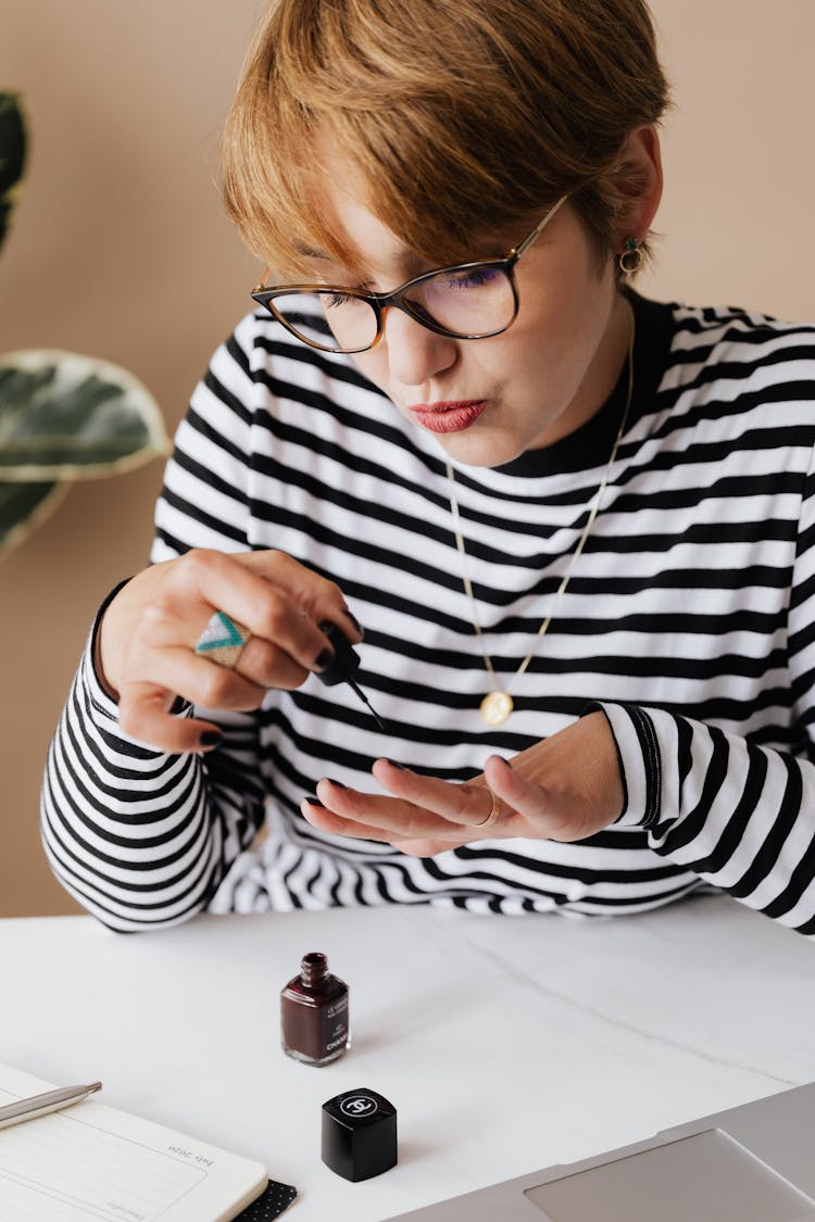
[[[238,337],[219,349],[180,426],[154,561],[193,546],[247,547],[247,413],[219,381],[225,364],[246,364],[241,357]],[[95,632],[115,593],[50,745],[42,835],[54,873],[84,908],[111,929],[150,930],[222,907],[219,888],[263,824],[264,786],[253,715],[219,712],[224,738],[205,758],[165,755],[121,732],[93,666]]]

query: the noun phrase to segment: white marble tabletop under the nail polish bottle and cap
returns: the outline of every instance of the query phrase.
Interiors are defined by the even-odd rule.
[[[351,987],[353,1047],[280,1050],[305,951]],[[0,1059],[261,1160],[292,1222],[381,1220],[815,1079],[815,945],[736,902],[576,921],[386,908],[204,916],[120,936],[0,921]],[[400,1163],[351,1184],[320,1107],[368,1086]]]

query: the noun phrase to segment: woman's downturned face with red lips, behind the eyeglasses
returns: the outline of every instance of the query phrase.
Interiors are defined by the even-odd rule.
[[[367,288],[385,292],[431,270],[343,186],[342,163],[327,169],[331,208],[364,258]],[[507,249],[524,237],[516,235]],[[507,252],[477,247],[472,257],[492,253]],[[313,264],[316,280],[343,282],[330,259]],[[447,338],[387,309],[380,342],[353,358],[407,420],[468,466],[501,466],[579,428],[611,393],[626,358],[630,308],[611,260],[599,268],[568,202],[524,252],[516,280],[518,316],[501,335]]]

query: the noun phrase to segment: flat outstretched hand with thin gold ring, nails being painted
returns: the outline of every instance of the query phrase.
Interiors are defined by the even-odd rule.
[[[433,857],[486,838],[585,840],[612,824],[624,800],[615,741],[599,711],[529,747],[512,765],[491,755],[483,775],[462,785],[385,759],[373,772],[389,796],[326,778],[316,787],[319,804],[303,800],[303,815],[323,831]],[[500,799],[500,814],[479,830],[492,810],[488,786]]]

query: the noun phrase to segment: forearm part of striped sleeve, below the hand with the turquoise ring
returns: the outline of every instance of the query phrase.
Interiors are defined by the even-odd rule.
[[[220,714],[216,753],[165,755],[120,731],[92,657],[90,642],[49,749],[45,853],[66,890],[111,929],[177,925],[219,907],[231,863],[263,822],[254,722]]]

